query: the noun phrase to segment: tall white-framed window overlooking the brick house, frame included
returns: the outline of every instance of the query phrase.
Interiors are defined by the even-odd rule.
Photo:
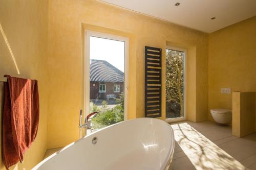
[[[84,108],[88,131],[125,119],[127,107],[128,39],[86,31]]]

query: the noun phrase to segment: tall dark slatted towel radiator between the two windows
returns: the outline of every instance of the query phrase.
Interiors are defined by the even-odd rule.
[[[145,117],[161,117],[162,49],[145,46]]]

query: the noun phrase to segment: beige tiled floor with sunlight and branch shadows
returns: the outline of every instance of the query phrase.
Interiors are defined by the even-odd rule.
[[[172,124],[175,153],[170,170],[256,169],[256,133],[237,138],[214,122]]]

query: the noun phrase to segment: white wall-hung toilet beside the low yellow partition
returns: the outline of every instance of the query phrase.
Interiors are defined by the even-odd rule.
[[[232,111],[228,109],[210,109],[210,113],[215,122],[219,124],[229,124],[232,121]]]

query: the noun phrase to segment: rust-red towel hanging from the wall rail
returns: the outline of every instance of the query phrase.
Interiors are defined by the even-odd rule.
[[[39,121],[39,95],[36,80],[5,75],[3,115],[3,159],[5,167],[23,161],[34,141]]]

